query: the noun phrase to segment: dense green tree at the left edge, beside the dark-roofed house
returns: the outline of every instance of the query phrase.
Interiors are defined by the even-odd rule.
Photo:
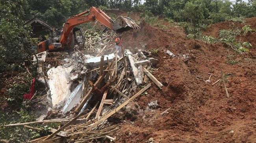
[[[18,69],[29,60],[32,39],[30,26],[24,25],[20,5],[22,1],[5,0],[0,2],[0,72]],[[13,64],[13,61],[19,61]]]

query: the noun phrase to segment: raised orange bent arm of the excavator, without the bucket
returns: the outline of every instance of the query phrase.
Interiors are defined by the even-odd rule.
[[[101,24],[106,25],[109,29],[113,29],[113,20],[104,13],[102,10],[97,9],[96,7],[91,7],[89,11],[85,11],[83,13],[77,14],[73,16],[72,18],[69,18],[67,22],[65,22],[63,27],[63,32],[61,34],[61,38],[59,39],[59,43],[61,43],[62,46],[67,45],[69,46],[69,43],[72,40],[72,29],[76,25],[80,25],[86,22],[91,22],[97,20]],[[69,39],[69,41],[68,41]]]

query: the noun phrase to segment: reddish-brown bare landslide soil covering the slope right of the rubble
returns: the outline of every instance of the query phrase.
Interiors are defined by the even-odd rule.
[[[246,22],[252,28],[256,25],[255,18]],[[221,25],[227,23],[215,24],[207,32],[216,36],[216,29],[225,28]],[[152,74],[164,87],[160,90],[153,84],[148,94],[135,99],[142,111],[135,121],[122,123],[116,133],[117,142],[144,143],[149,138],[161,143],[256,142],[255,59],[247,54],[239,55],[221,43],[188,39],[184,31],[176,27],[162,31],[145,22],[140,26],[140,30],[122,34],[124,47],[134,52],[135,47],[159,49],[152,54],[160,61],[156,65],[159,69]],[[255,32],[248,37],[255,38]],[[255,46],[251,50],[254,49]],[[189,58],[171,58],[166,54],[167,50],[176,56],[188,53]],[[230,55],[240,63],[231,65]],[[222,81],[212,85],[221,78],[220,65],[226,75],[229,98]],[[208,73],[212,74],[210,83],[206,82]],[[148,110],[148,103],[155,100],[158,100],[160,108]],[[167,114],[160,115],[169,107],[171,110]]]

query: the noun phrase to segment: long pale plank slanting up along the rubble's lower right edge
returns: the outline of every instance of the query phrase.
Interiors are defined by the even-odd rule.
[[[113,114],[115,114],[115,112],[117,112],[118,110],[120,110],[122,107],[124,107],[125,105],[127,105],[128,103],[130,103],[132,100],[134,100],[136,97],[138,97],[141,93],[143,93],[144,91],[146,91],[150,86],[151,86],[151,83],[149,83],[146,87],[144,87],[144,88],[141,89],[139,92],[137,92],[137,93],[136,93],[134,96],[132,96],[129,100],[127,100],[127,101],[125,101],[124,103],[122,103],[119,107],[117,107],[116,109],[114,109],[114,110],[112,110],[111,112],[109,112],[106,116],[103,116],[103,117],[100,118],[98,121],[96,121],[95,123],[93,123],[90,127],[88,127],[87,129],[85,129],[84,132],[93,129],[94,127],[96,127],[97,125],[99,125],[100,123],[102,123],[103,121],[105,121],[106,119],[108,119],[110,116],[112,116]]]

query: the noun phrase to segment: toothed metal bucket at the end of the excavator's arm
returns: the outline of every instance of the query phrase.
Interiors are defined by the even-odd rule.
[[[119,16],[113,25],[113,29],[117,32],[124,32],[130,29],[139,29],[140,27],[130,17]]]

